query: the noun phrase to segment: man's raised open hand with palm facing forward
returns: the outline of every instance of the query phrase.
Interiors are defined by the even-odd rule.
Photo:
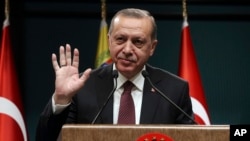
[[[71,47],[69,44],[60,46],[59,63],[57,56],[52,54],[52,64],[56,75],[54,100],[55,104],[68,104],[72,97],[84,86],[91,69],[84,71],[79,77],[79,51],[74,49],[73,60],[71,57]]]

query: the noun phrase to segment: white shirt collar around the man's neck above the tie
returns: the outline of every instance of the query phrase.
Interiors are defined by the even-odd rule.
[[[129,79],[139,91],[143,90],[143,85],[144,85],[144,80],[145,78],[142,76],[141,72],[145,70],[146,67],[144,66],[143,69],[136,74],[133,78]],[[116,70],[115,64],[113,65],[113,70]],[[121,88],[122,85],[127,81],[128,79],[123,76],[119,71],[118,71],[118,78],[117,78],[117,88]]]

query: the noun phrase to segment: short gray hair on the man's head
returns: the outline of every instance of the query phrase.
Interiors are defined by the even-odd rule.
[[[142,9],[136,9],[136,8],[127,8],[127,9],[122,9],[118,11],[111,20],[111,24],[110,24],[109,32],[108,32],[109,35],[112,33],[112,30],[114,28],[114,19],[120,15],[126,16],[126,17],[132,17],[132,18],[139,18],[139,19],[148,17],[152,23],[151,38],[157,39],[157,26],[156,26],[154,17],[148,11],[142,10]]]

